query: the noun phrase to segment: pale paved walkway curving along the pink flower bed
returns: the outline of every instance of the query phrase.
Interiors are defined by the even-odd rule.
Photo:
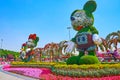
[[[39,79],[29,78],[29,77],[4,71],[2,69],[2,65],[0,65],[0,80],[39,80]]]

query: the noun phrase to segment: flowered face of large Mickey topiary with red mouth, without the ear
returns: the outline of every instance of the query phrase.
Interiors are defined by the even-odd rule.
[[[87,16],[84,10],[76,10],[71,16],[72,26],[77,31],[81,28],[92,25],[93,21],[93,18]]]

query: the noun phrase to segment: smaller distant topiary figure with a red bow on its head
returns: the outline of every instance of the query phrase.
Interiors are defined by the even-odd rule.
[[[31,60],[32,55],[34,54],[33,49],[37,46],[38,41],[39,37],[37,37],[36,34],[30,34],[28,41],[22,44],[20,58],[23,61],[28,62]]]

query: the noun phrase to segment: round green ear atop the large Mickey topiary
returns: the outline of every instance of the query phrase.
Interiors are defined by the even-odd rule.
[[[92,13],[96,10],[97,4],[94,0],[90,0],[86,2],[86,4],[83,7],[83,10],[85,10],[88,13]]]

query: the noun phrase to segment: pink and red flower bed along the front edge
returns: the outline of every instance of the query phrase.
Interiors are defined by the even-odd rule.
[[[33,78],[37,78],[40,80],[120,80],[120,76],[107,76],[101,78],[90,78],[90,77],[69,77],[69,76],[61,76],[54,75],[51,73],[50,69],[46,68],[5,68],[4,70],[30,76]]]

